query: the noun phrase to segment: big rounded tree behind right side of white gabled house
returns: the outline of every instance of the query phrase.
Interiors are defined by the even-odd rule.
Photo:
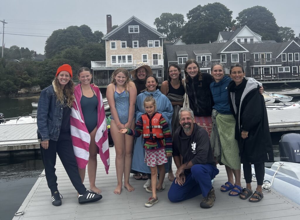
[[[242,10],[236,17],[239,26],[247,25],[252,31],[262,36],[262,40],[281,39],[278,36],[279,27],[272,12],[263,6],[253,6]]]

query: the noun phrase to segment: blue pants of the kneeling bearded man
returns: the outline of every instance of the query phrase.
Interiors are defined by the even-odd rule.
[[[179,186],[173,181],[168,198],[171,202],[181,202],[197,195],[205,197],[211,190],[211,180],[219,173],[219,170],[210,164],[195,164],[191,173],[186,176],[185,183]]]

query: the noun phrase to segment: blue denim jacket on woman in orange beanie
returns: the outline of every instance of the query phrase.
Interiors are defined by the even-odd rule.
[[[41,91],[38,102],[37,125],[42,141],[58,140],[62,113],[63,106],[57,102],[53,85],[50,85]]]

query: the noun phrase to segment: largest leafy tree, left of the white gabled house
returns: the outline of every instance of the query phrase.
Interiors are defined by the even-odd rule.
[[[231,30],[235,23],[232,11],[219,2],[199,4],[187,13],[187,19],[182,31],[182,40],[187,44],[213,42],[220,31]]]

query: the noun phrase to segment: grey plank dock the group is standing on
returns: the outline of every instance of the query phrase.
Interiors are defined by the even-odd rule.
[[[255,220],[255,219],[300,219],[300,205],[278,192],[264,192],[264,198],[259,203],[251,203],[238,197],[228,195],[228,192],[220,192],[220,187],[227,181],[224,166],[219,166],[220,173],[214,181],[216,201],[210,209],[202,209],[199,204],[202,196],[199,195],[180,203],[171,203],[167,193],[171,182],[167,179],[164,183],[166,189],[158,193],[159,202],[153,207],[145,207],[144,204],[151,196],[143,189],[146,181],[135,180],[132,175],[130,183],[135,187],[134,192],[122,189],[121,195],[115,195],[113,190],[117,185],[115,168],[115,149],[110,148],[110,170],[107,175],[104,166],[98,157],[96,186],[101,188],[103,198],[95,203],[78,204],[76,190],[72,186],[67,174],[57,158],[56,175],[58,177],[58,189],[63,195],[62,205],[55,207],[51,204],[50,190],[46,178],[39,177],[32,190],[19,208],[24,211],[21,216],[13,217],[13,220],[64,220],[64,219],[210,219],[210,220]],[[173,171],[176,168],[173,164]],[[88,187],[86,175],[84,184]],[[253,189],[256,188],[253,182]],[[242,180],[245,187],[245,181]]]

